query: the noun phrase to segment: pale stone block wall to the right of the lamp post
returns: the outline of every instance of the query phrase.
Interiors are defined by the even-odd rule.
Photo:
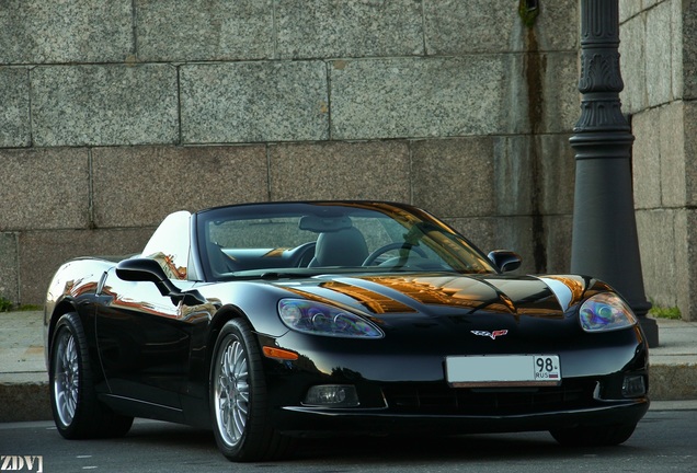
[[[624,109],[647,296],[697,320],[697,2],[621,0]]]

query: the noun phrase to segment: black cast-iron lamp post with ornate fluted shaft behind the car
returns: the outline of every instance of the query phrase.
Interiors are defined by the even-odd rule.
[[[605,280],[629,302],[649,346],[659,345],[643,289],[630,154],[635,139],[621,114],[618,0],[581,1],[581,118],[575,150],[571,270]]]

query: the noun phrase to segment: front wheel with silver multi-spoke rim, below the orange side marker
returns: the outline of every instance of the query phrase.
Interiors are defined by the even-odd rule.
[[[292,439],[271,424],[259,344],[247,321],[233,319],[222,326],[209,388],[216,443],[228,460],[272,460],[288,452]]]

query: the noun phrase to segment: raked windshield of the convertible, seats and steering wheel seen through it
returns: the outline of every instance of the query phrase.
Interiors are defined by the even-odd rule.
[[[208,280],[328,272],[495,273],[485,256],[416,208],[386,203],[278,203],[196,215]]]

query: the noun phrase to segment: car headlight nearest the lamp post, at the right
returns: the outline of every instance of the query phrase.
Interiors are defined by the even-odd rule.
[[[586,332],[609,332],[637,323],[629,305],[613,292],[601,292],[583,302],[579,320]]]

